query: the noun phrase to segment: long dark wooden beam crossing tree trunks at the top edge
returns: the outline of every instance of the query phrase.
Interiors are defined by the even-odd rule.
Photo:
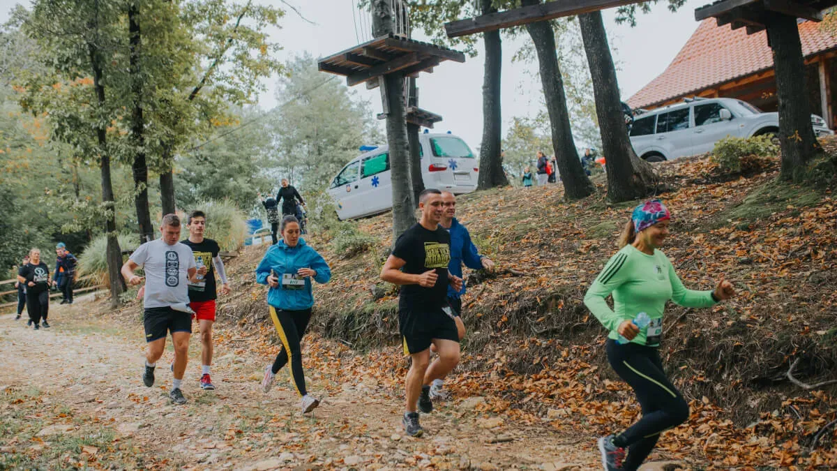
[[[754,1],[754,0],[753,0]],[[548,19],[562,18],[590,13],[604,8],[622,7],[639,0],[561,0],[528,7],[512,8],[504,12],[489,13],[476,18],[460,19],[444,23],[444,31],[449,38],[485,33],[512,26],[537,23]]]

